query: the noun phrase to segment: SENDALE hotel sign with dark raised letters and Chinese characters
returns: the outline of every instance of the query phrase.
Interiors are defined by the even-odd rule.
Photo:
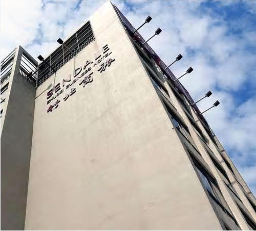
[[[66,101],[72,97],[77,91],[77,87],[86,87],[87,84],[93,82],[93,71],[102,73],[107,67],[110,67],[115,59],[110,58],[112,54],[108,44],[102,47],[102,53],[96,55],[94,61],[87,60],[83,66],[79,66],[68,75],[66,79],[62,79],[61,83],[56,84],[47,92],[47,112],[52,112],[59,107],[61,101]],[[95,70],[96,69],[96,70]]]

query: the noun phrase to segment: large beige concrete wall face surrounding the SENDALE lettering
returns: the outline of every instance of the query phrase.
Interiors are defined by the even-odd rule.
[[[221,229],[172,123],[110,3],[91,24],[96,41],[76,66],[108,44],[115,62],[47,113],[37,89],[26,229]],[[45,91],[45,92],[44,92]]]

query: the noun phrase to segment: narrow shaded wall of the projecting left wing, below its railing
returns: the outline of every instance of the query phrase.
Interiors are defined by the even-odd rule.
[[[1,229],[24,229],[35,88],[18,74],[23,48],[16,50],[1,134]],[[16,63],[16,65],[15,65]]]

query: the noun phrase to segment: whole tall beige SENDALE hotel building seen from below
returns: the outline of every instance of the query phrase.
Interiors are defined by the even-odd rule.
[[[20,46],[2,61],[2,229],[255,229],[255,197],[134,30],[108,2],[39,65]]]

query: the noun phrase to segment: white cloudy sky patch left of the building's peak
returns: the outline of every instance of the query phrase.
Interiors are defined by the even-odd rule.
[[[33,55],[34,48],[49,54],[57,38],[68,37],[104,2],[1,0],[1,60],[17,45]]]

